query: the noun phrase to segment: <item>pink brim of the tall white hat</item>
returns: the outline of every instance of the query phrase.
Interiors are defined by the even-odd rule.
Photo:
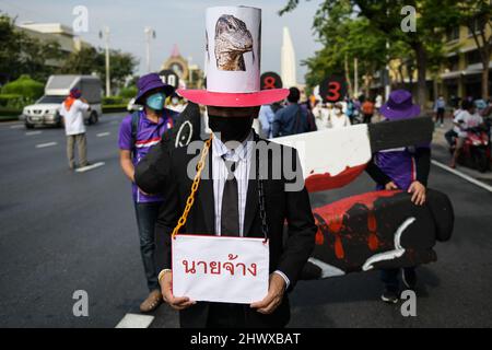
[[[269,89],[251,93],[224,93],[207,90],[177,91],[183,97],[203,106],[216,107],[254,107],[268,105],[284,100],[289,95],[288,89]]]

